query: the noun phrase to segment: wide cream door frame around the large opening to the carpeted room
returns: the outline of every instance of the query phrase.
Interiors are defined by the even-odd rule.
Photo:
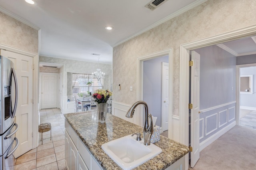
[[[178,142],[188,146],[189,130],[188,130],[188,103],[189,103],[189,51],[200,47],[215,45],[218,43],[237,40],[240,38],[253,36],[256,34],[256,25],[248,26],[238,30],[226,32],[216,36],[196,40],[194,42],[184,43],[180,45],[180,99],[179,99],[179,121],[180,121],[180,138]],[[236,110],[238,106],[236,106]],[[186,156],[186,167],[188,167],[188,156]]]

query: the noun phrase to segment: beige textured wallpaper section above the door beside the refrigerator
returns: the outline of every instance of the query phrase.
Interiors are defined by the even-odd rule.
[[[38,30],[0,12],[0,43],[38,53]]]

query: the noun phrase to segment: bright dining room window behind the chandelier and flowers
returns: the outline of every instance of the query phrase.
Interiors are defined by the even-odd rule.
[[[77,93],[84,93],[84,95],[87,95],[88,92],[93,93],[97,89],[103,88],[103,79],[100,79],[98,81],[97,79],[93,78],[92,74],[78,74],[73,73],[73,95],[76,95]],[[92,85],[89,86],[87,83],[91,81]]]

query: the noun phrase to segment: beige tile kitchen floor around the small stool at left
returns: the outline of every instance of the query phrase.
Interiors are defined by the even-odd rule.
[[[64,116],[59,109],[40,110],[40,123],[51,123],[50,131],[43,133],[43,144],[16,159],[14,170],[66,170]]]

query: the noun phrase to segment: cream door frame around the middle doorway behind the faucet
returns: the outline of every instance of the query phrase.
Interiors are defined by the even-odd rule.
[[[143,100],[143,61],[148,59],[153,59],[156,57],[161,57],[164,55],[169,56],[169,107],[168,107],[168,138],[172,138],[172,107],[173,107],[173,49],[168,48],[164,49],[162,51],[157,51],[155,53],[150,53],[147,55],[143,55],[141,57],[137,57],[137,101]],[[143,108],[140,107],[138,109],[138,114],[136,115],[136,125],[143,126]]]

